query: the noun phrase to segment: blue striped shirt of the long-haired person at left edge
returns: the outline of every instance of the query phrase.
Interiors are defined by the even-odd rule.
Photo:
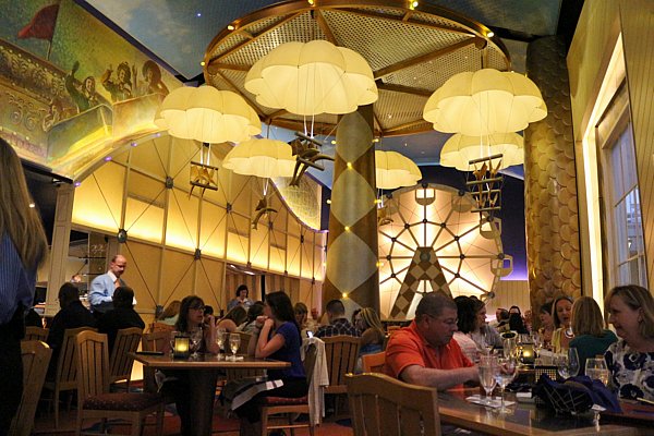
[[[2,234],[0,241],[0,325],[7,324],[19,304],[32,307],[36,269],[27,270],[11,238]]]

